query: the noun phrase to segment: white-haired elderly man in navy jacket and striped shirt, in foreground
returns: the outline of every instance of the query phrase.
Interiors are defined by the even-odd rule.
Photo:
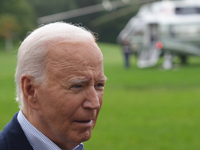
[[[0,149],[83,150],[106,81],[94,35],[61,22],[36,29],[19,48],[15,80],[21,109],[0,133]]]

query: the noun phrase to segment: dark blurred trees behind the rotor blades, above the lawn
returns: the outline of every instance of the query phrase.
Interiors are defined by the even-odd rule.
[[[113,15],[114,17],[109,15],[119,9],[127,7],[130,2],[115,1],[113,5],[111,2],[107,0],[1,0],[1,39],[8,38],[8,36],[11,36],[8,34],[11,33],[13,38],[23,39],[27,31],[38,27],[38,19],[40,17],[79,9],[78,11],[74,11],[74,13],[70,12],[72,13],[70,16],[68,16],[69,12],[67,12],[67,16],[61,18],[61,20],[81,24],[91,31],[98,33],[99,41],[115,43],[120,30],[122,30],[127,21],[137,12],[140,2],[136,2],[137,4],[133,10],[125,12],[125,14],[121,12],[116,14],[117,16]],[[85,7],[87,7],[86,10],[80,9]],[[109,34],[106,34],[108,32]]]

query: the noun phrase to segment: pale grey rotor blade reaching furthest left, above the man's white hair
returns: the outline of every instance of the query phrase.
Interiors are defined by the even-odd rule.
[[[127,3],[123,3],[121,1],[113,1],[110,3],[112,4],[113,8],[118,8],[118,7],[128,5]],[[105,8],[102,6],[102,4],[97,4],[93,6],[88,6],[84,8],[74,9],[74,10],[70,10],[70,11],[66,11],[62,13],[40,17],[38,18],[38,22],[40,24],[49,23],[53,21],[65,20],[65,19],[74,18],[74,17],[83,16],[83,15],[92,14],[92,13],[101,12],[101,11],[105,11]]]

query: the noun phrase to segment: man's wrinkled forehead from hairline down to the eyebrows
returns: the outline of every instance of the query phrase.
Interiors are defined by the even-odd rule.
[[[47,70],[56,78],[104,77],[103,56],[95,42],[61,42],[49,51]]]

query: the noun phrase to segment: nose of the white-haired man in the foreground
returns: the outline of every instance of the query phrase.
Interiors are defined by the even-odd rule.
[[[99,100],[98,93],[95,87],[90,87],[87,90],[83,107],[88,108],[88,109],[100,108],[100,100]]]

